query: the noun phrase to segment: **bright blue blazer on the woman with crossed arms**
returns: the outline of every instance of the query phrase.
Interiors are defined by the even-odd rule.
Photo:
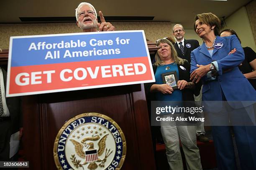
[[[215,43],[218,42],[223,45],[222,47],[219,46],[219,49],[214,48],[212,57],[205,43],[191,52],[190,73],[198,68],[197,64],[208,65],[213,61],[218,63],[216,80],[205,81],[206,76],[202,77],[202,100],[221,101],[222,90],[227,101],[256,101],[256,91],[238,69],[238,65],[244,60],[243,48],[238,38],[236,35],[217,36]],[[234,48],[236,48],[236,52],[228,55]],[[232,107],[236,108],[236,105]]]

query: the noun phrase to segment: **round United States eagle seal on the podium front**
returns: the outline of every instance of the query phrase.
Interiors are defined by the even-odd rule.
[[[118,124],[100,113],[83,113],[68,120],[54,141],[58,170],[120,170],[126,141]]]

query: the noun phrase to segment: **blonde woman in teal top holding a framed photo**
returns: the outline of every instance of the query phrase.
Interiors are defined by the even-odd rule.
[[[151,100],[158,101],[194,101],[194,93],[200,92],[195,83],[189,80],[190,65],[187,60],[179,58],[172,43],[167,39],[156,42],[158,47],[153,70],[156,82],[148,83],[146,90],[150,92]],[[177,89],[164,83],[162,74],[176,72]],[[167,76],[166,76],[167,77]],[[172,102],[170,102],[172,103]],[[166,146],[166,156],[171,170],[183,170],[179,139],[186,158],[188,170],[201,170],[199,149],[196,144],[196,126],[180,125],[176,121],[161,121],[161,133]]]

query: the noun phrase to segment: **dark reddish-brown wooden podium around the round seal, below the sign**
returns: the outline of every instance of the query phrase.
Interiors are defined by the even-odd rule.
[[[4,50],[0,62],[7,58]],[[67,120],[85,112],[107,115],[123,130],[127,151],[122,170],[156,169],[143,84],[24,96],[23,148],[29,169],[56,170],[56,135]]]

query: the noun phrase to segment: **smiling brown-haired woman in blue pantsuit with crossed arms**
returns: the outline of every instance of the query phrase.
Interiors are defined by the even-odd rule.
[[[235,35],[219,37],[220,20],[212,13],[197,14],[194,30],[204,42],[191,52],[190,80],[196,83],[201,80],[203,83],[202,100],[211,101],[204,102],[205,110],[213,112],[213,117],[219,116],[211,121],[212,125],[223,123],[212,126],[218,168],[236,170],[233,140],[228,126],[228,122],[231,122],[236,125],[233,129],[241,169],[256,170],[256,126],[252,108],[256,91],[238,69],[244,60],[243,48]],[[249,110],[248,115],[242,114],[245,110]],[[241,122],[246,118],[245,123]],[[253,126],[245,126],[248,120]]]

